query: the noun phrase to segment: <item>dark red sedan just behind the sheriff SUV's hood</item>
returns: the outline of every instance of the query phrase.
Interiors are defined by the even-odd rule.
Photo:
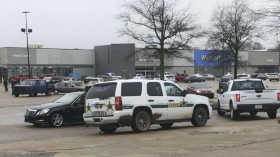
[[[214,91],[207,83],[191,83],[187,87],[188,94],[196,94],[206,96],[208,98],[214,98]]]

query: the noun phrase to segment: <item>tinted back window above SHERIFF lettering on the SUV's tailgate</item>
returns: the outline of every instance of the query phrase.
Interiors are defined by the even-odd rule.
[[[96,84],[88,91],[86,99],[114,97],[117,83]]]

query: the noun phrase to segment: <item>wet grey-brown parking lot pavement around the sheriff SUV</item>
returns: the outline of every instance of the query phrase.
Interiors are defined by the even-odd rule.
[[[206,81],[216,92],[217,81]],[[178,83],[186,89],[189,83]],[[269,88],[279,82],[265,81]],[[148,132],[134,133],[118,128],[103,134],[97,127],[84,123],[66,124],[61,128],[24,123],[27,108],[54,101],[63,94],[14,97],[0,86],[0,156],[279,156],[280,125],[266,113],[241,114],[232,121],[229,113],[212,118],[204,127],[175,123],[170,129],[152,125]],[[211,103],[217,102],[215,94]],[[280,114],[278,113],[277,119]]]

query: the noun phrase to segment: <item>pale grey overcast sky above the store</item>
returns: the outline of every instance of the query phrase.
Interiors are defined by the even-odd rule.
[[[191,2],[198,22],[209,24],[217,3],[230,0],[180,0],[180,7]],[[262,0],[249,0],[252,8],[262,5]],[[124,24],[115,19],[121,11],[123,0],[1,0],[0,2],[0,47],[26,47],[25,28],[27,14],[29,44],[42,44],[44,48],[93,49],[96,45],[128,43],[119,37],[118,27]],[[260,41],[265,47],[273,47],[272,40]],[[134,43],[130,40],[130,43]],[[143,45],[136,43],[137,47]],[[194,47],[204,47],[204,40],[194,42]]]

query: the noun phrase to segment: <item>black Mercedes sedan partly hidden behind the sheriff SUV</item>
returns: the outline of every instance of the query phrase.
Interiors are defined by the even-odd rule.
[[[83,122],[85,92],[72,92],[51,103],[26,110],[24,122],[60,127],[63,123]]]

